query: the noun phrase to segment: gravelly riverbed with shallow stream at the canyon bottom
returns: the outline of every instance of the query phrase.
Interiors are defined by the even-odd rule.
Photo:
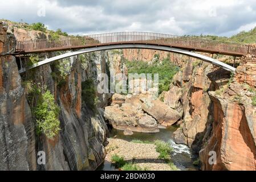
[[[170,160],[178,170],[197,170],[193,166],[193,159],[189,148],[184,144],[176,144],[173,141],[173,132],[175,127],[160,129],[159,133],[133,133],[133,135],[124,135],[123,131],[112,129],[106,147],[107,155],[105,161],[98,170],[119,170],[115,168],[111,158],[113,155],[123,156],[127,163],[134,163],[140,168],[148,170],[170,171],[169,164],[159,159],[159,153],[156,152],[155,140],[161,140],[169,143],[172,147]],[[135,143],[141,141],[141,143]],[[147,144],[149,143],[149,144]]]

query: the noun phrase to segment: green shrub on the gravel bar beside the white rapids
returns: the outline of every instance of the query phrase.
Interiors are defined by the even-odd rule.
[[[170,147],[170,144],[161,140],[156,140],[155,145],[156,151],[159,152],[159,159],[169,160],[170,152],[172,152],[172,147]]]

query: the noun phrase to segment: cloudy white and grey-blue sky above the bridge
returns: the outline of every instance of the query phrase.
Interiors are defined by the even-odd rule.
[[[69,34],[150,31],[231,36],[256,26],[255,0],[9,0],[0,19],[42,22]]]

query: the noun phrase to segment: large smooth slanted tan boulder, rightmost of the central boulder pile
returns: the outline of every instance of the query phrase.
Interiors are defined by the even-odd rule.
[[[171,126],[181,118],[176,110],[159,100],[144,100],[142,109],[164,126]]]

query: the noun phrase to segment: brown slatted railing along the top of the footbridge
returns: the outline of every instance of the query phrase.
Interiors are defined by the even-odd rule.
[[[162,46],[237,55],[245,55],[252,50],[252,47],[246,44],[220,42],[218,40],[195,38],[192,36],[177,36],[152,32],[115,32],[86,36],[67,36],[58,39],[20,41],[16,44],[16,52],[50,51],[119,43],[159,44]]]

